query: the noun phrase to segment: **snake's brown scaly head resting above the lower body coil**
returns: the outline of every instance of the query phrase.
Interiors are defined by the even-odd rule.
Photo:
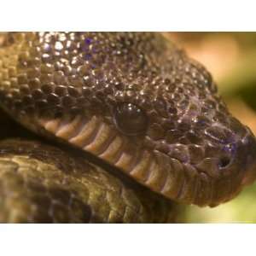
[[[210,73],[160,33],[9,34],[2,107],[161,195],[216,206],[255,179],[252,132]]]

